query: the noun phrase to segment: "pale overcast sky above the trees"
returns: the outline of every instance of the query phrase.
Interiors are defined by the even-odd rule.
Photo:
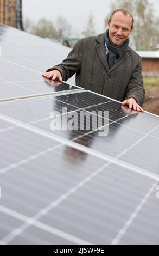
[[[23,0],[23,16],[35,21],[46,17],[53,22],[60,15],[74,28],[84,30],[88,16],[92,13],[97,33],[104,32],[104,19],[109,13],[111,0]],[[156,15],[159,14],[159,1],[149,0],[154,4]]]

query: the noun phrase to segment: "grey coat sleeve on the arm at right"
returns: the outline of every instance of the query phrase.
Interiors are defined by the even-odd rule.
[[[137,101],[137,103],[142,106],[144,101],[144,95],[145,89],[143,87],[141,57],[139,56],[138,64],[133,71],[133,74],[128,84],[126,98],[129,99],[130,97],[133,97]]]

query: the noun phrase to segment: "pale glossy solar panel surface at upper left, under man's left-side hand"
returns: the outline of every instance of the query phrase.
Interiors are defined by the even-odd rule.
[[[69,52],[67,47],[54,43],[53,50],[52,42],[3,25],[0,25],[0,43],[0,100],[82,90],[41,77],[49,63],[61,62],[61,57]],[[74,82],[74,77],[69,81]]]

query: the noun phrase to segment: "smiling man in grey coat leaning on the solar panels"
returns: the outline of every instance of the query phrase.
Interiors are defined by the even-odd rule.
[[[105,33],[79,40],[67,58],[43,77],[67,81],[76,73],[78,86],[143,112],[141,57],[128,46],[133,22],[129,10],[113,11]]]

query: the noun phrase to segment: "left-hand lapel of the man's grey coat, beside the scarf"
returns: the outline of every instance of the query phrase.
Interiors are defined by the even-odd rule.
[[[103,63],[105,70],[109,72],[109,65],[107,63],[106,50],[104,45],[104,34],[98,35],[96,40],[99,42],[99,44],[96,46],[98,56]]]

